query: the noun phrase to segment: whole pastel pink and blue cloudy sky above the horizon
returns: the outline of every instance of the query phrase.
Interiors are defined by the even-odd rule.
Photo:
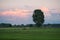
[[[0,23],[34,24],[33,11],[41,9],[45,24],[60,24],[60,0],[0,0]]]

